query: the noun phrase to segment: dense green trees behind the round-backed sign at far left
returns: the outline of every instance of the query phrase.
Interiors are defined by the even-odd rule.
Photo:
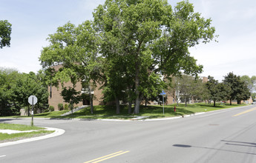
[[[28,97],[38,99],[36,109],[47,108],[47,84],[42,71],[35,74],[19,73],[17,70],[0,68],[0,116],[19,115],[21,108],[29,108]]]

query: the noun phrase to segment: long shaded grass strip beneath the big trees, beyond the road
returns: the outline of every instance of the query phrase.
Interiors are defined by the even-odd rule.
[[[140,106],[140,113],[139,114],[128,114],[128,107],[127,106],[120,106],[120,114],[116,114],[116,107],[115,106],[105,106],[99,105],[93,107],[93,114],[91,114],[91,108],[85,107],[82,110],[79,110],[76,113],[73,113],[68,116],[60,116],[65,111],[56,111],[56,112],[49,112],[49,113],[41,113],[35,115],[35,117],[45,117],[45,118],[56,118],[56,119],[132,119],[137,116],[148,116],[147,119],[154,119],[154,118],[166,118],[166,117],[173,117],[173,116],[185,116],[194,113],[200,112],[208,112],[212,110],[222,110],[230,107],[240,107],[243,105],[240,104],[217,104],[216,107],[213,107],[213,104],[204,104],[204,103],[197,103],[197,104],[188,104],[187,107],[185,104],[179,104],[176,107],[176,112],[174,112],[174,106],[176,104],[171,104],[165,106],[165,114],[163,114],[163,106],[155,105],[155,106]],[[18,117],[17,117],[18,118]]]

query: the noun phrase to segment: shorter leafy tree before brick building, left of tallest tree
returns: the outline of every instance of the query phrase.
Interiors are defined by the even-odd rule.
[[[68,22],[63,27],[58,27],[56,33],[49,35],[47,40],[50,45],[43,48],[40,61],[45,69],[53,70],[50,82],[62,82],[62,85],[64,82],[72,82],[73,87],[76,87],[77,82],[83,82],[85,89],[89,87],[93,113],[91,84],[96,84],[101,59],[98,56],[98,39],[91,21],[85,21],[78,27]],[[62,67],[54,69],[58,64],[62,64]]]

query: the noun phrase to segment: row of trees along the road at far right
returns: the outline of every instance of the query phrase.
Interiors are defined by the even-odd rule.
[[[180,100],[187,104],[188,101],[204,101],[216,102],[228,101],[232,104],[233,100],[237,100],[237,104],[241,104],[242,100],[247,100],[255,93],[256,80],[249,76],[236,76],[234,73],[228,73],[224,76],[223,82],[218,82],[214,77],[208,76],[208,82],[203,83],[202,79],[193,76],[175,76],[172,78],[168,93],[174,97],[179,104]]]

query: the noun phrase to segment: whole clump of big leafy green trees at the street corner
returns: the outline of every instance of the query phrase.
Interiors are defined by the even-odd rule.
[[[116,113],[120,99],[135,101],[134,113],[140,113],[141,100],[165,87],[156,86],[163,76],[202,72],[188,48],[211,41],[214,32],[211,19],[195,13],[188,1],[171,7],[164,0],[106,0],[94,10],[93,21],[68,23],[49,35],[40,60],[46,69],[62,64],[52,82],[101,78]]]

